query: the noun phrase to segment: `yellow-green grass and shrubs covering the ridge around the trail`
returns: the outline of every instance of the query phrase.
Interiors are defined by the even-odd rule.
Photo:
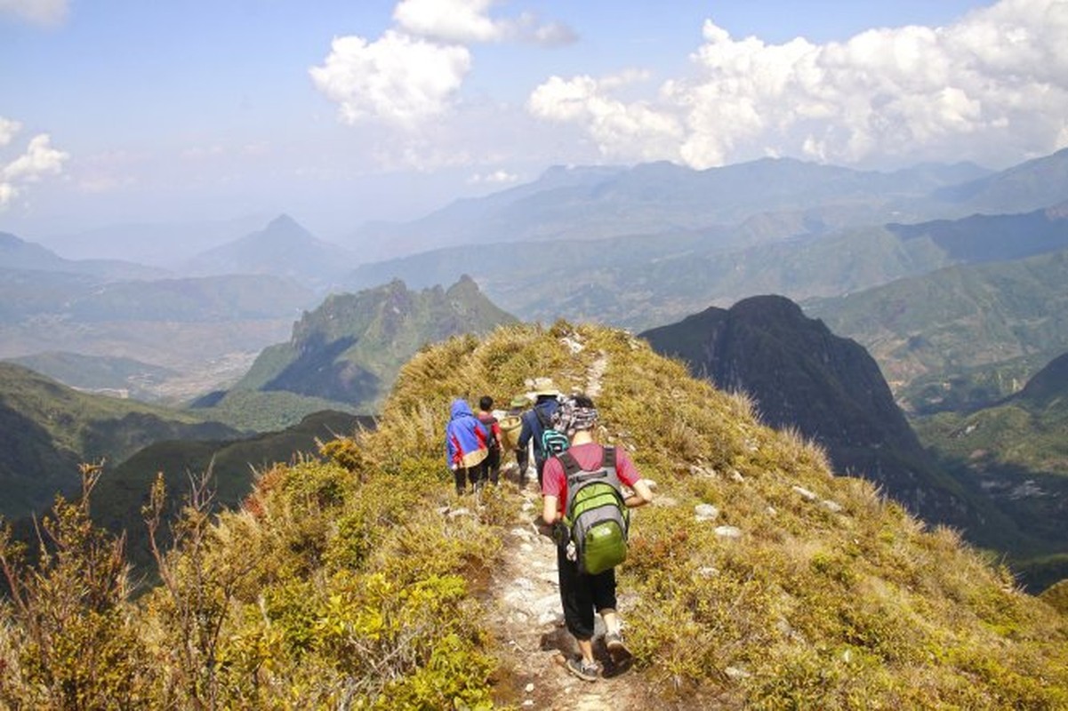
[[[1004,568],[643,342],[563,321],[425,349],[376,431],[263,472],[240,510],[210,521],[194,491],[163,584],[137,604],[81,509],[61,507],[50,530],[76,544],[41,578],[15,575],[0,702],[515,708],[523,670],[487,620],[502,533],[530,515],[507,486],[457,499],[442,427],[453,397],[503,400],[540,375],[585,389],[594,374],[602,440],[658,495],[621,576],[635,668],[599,683],[649,690],[642,708],[1068,705],[1068,623]],[[696,521],[698,504],[716,520]]]

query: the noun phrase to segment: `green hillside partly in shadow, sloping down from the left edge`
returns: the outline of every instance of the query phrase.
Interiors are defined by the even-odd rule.
[[[135,400],[80,393],[0,363],[0,515],[26,516],[77,490],[77,464],[124,461],[160,440],[225,439],[236,430]]]

